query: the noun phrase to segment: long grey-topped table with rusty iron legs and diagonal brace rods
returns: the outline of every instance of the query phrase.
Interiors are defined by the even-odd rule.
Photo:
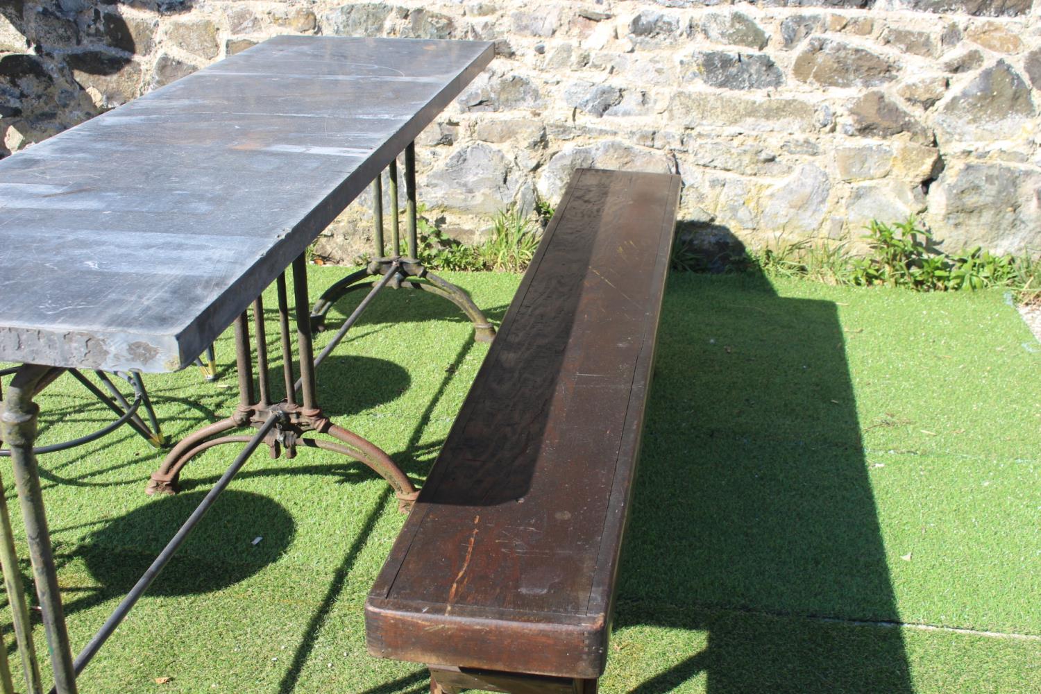
[[[365,273],[375,281],[347,327],[377,291],[405,284],[451,299],[466,310],[479,337],[491,337],[490,325],[464,292],[414,258],[413,143],[492,54],[486,42],[279,36],[0,161],[0,361],[23,364],[0,418],[57,692],[76,691],[76,675],[261,443],[287,456],[298,445],[342,453],[382,474],[402,506],[414,498],[408,479],[384,452],[332,423],[318,405],[315,362],[328,351],[315,360],[304,252],[365,186],[379,192],[388,166],[397,196],[397,157],[404,151],[408,253],[403,256],[397,242],[395,204],[396,238],[384,255],[382,196],[374,196],[377,255]],[[299,381],[289,339],[288,266]],[[278,401],[268,383],[259,299],[272,282],[285,356],[284,396]],[[250,306],[258,333],[256,382]],[[73,662],[33,452],[33,397],[67,368],[182,368],[231,324],[239,405],[228,419],[175,446],[150,490],[175,491],[181,467],[201,449],[247,445]],[[224,435],[236,428],[256,431]],[[304,437],[307,432],[338,440]],[[9,536],[3,524],[0,539]],[[15,561],[0,547],[4,557]],[[10,576],[6,563],[4,568]],[[24,605],[15,608],[25,660],[32,656],[27,613]],[[29,669],[26,675],[31,679]],[[36,678],[27,682],[30,691],[40,691]]]

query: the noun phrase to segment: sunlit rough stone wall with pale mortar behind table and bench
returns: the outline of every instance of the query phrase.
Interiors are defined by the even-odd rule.
[[[420,140],[450,232],[592,165],[679,172],[703,240],[920,213],[948,251],[1041,249],[1041,0],[2,0],[4,153],[277,33],[496,42]],[[356,219],[325,253],[367,249]]]

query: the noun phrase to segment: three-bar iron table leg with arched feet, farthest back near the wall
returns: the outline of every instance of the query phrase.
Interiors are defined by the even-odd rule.
[[[474,339],[478,342],[490,342],[496,337],[496,329],[481,312],[464,290],[428,272],[416,259],[418,253],[418,212],[415,191],[415,144],[405,149],[405,219],[406,219],[406,255],[402,257],[398,214],[398,161],[391,161],[389,166],[390,181],[390,248],[391,255],[383,255],[383,198],[382,179],[373,181],[373,220],[375,225],[376,257],[364,269],[351,273],[340,281],[326,289],[311,308],[310,325],[315,331],[325,329],[326,316],[333,304],[351,291],[369,287],[371,278],[386,276],[393,273],[390,286],[395,289],[403,286],[424,289],[430,293],[447,299],[469,318],[474,324]],[[382,176],[382,173],[380,174]],[[420,281],[422,280],[422,281]],[[341,329],[344,330],[344,329]],[[344,331],[346,332],[346,331]],[[340,339],[341,335],[337,336]],[[337,340],[338,341],[338,340]]]

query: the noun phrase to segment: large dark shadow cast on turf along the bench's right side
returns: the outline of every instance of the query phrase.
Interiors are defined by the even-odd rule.
[[[615,625],[707,646],[631,691],[910,694],[836,305],[676,274],[655,376]]]

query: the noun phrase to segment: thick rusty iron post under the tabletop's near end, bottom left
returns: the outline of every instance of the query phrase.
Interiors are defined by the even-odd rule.
[[[42,389],[54,369],[37,364],[23,364],[11,382],[0,415],[3,440],[10,449],[11,469],[18,487],[18,498],[29,543],[29,559],[36,584],[36,596],[43,611],[44,631],[51,656],[54,687],[58,694],[76,693],[76,674],[73,671],[69,631],[66,627],[57,569],[51,548],[47,514],[40,487],[40,470],[32,451],[36,439],[36,415],[40,407],[33,397]],[[60,372],[60,370],[58,371]]]

